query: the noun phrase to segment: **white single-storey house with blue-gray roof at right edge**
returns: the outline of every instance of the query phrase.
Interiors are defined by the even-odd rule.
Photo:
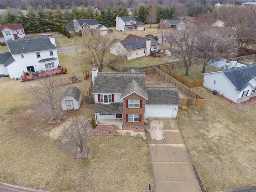
[[[236,66],[236,61],[230,62]],[[204,86],[240,103],[256,96],[256,65],[232,67],[204,75]]]

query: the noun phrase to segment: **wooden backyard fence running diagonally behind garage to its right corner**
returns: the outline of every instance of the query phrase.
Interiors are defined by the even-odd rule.
[[[172,78],[165,72],[159,70],[158,68],[150,68],[146,70],[140,70],[139,72],[144,72],[145,74],[158,74],[160,77],[164,78],[164,80],[168,81],[173,86],[176,86],[179,90],[184,92],[186,95],[191,98],[180,98],[181,106],[194,106],[194,107],[205,107],[206,100],[198,95],[196,92],[192,91],[190,88],[185,86],[184,84],[178,82],[176,79]]]

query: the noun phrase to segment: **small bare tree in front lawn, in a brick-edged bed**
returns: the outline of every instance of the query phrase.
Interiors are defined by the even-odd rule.
[[[92,129],[87,121],[80,118],[72,122],[72,125],[62,131],[62,140],[69,146],[77,146],[83,154],[84,145],[90,140]]]

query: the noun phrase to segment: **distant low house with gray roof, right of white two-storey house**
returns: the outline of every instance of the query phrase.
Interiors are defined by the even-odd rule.
[[[186,20],[161,19],[159,23],[160,29],[184,30],[187,26]]]

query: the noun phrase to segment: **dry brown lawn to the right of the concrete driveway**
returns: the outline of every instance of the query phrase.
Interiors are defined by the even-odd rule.
[[[206,88],[193,88],[205,108],[179,108],[178,126],[207,192],[256,184],[256,105],[236,110]]]

